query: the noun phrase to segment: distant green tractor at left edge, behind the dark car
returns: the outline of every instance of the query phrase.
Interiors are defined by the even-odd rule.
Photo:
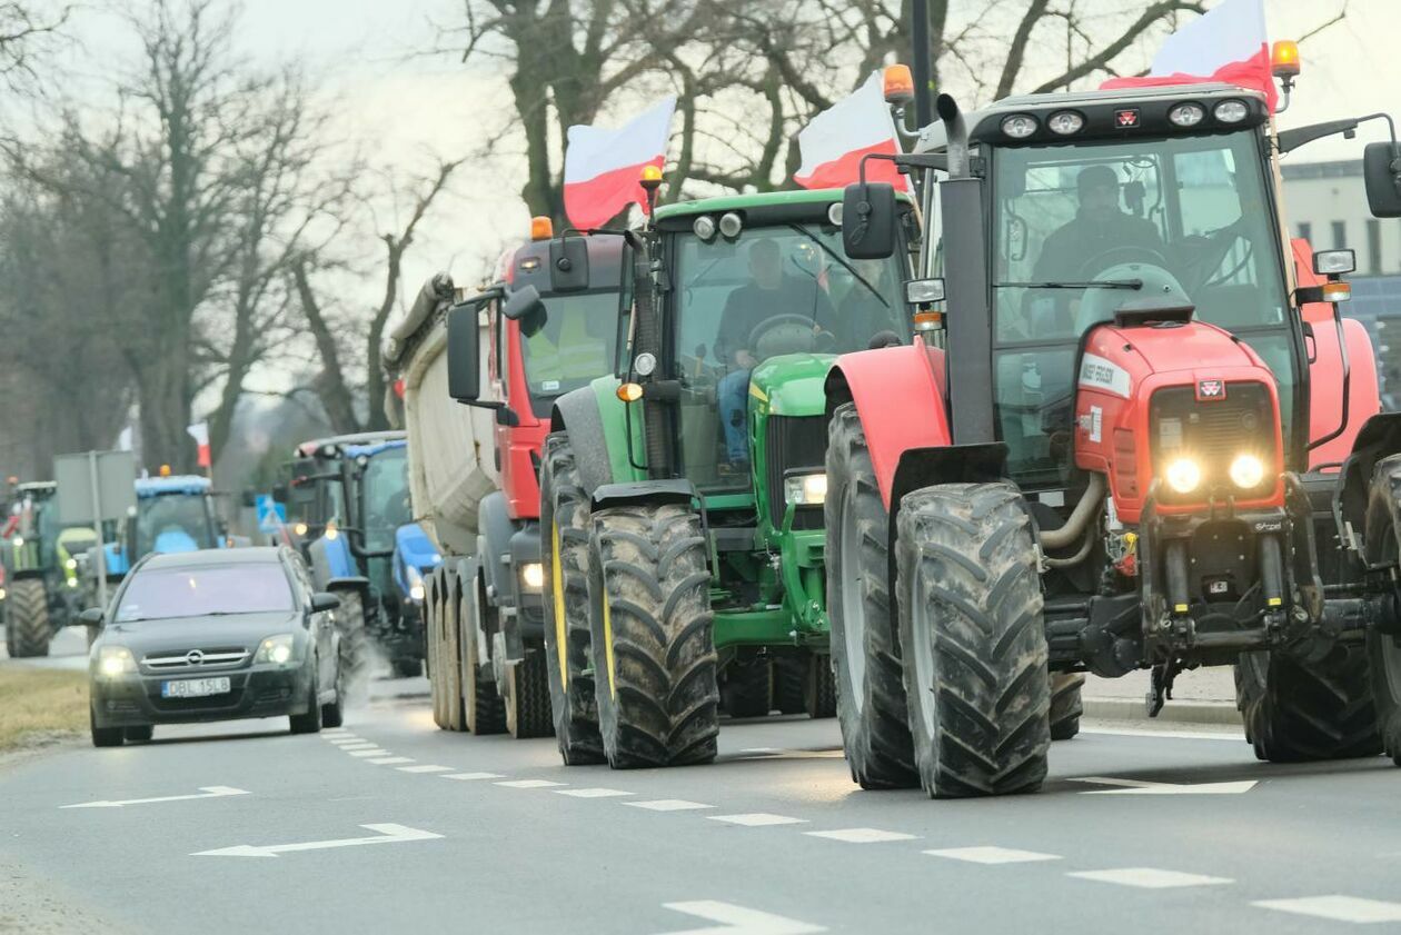
[[[13,657],[48,656],[49,641],[78,622],[80,557],[97,545],[85,526],[60,526],[57,485],[21,484],[10,540],[0,547],[6,568],[6,652]]]

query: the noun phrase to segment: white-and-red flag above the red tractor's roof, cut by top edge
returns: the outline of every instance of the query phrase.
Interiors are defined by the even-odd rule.
[[[1275,112],[1279,93],[1269,67],[1265,0],[1223,0],[1167,36],[1143,77],[1110,79],[1103,88],[1223,81],[1259,91]]]

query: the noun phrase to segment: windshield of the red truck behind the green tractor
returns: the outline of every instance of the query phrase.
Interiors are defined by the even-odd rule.
[[[612,373],[618,342],[618,293],[590,292],[545,297],[546,314],[521,321],[521,353],[532,401],[588,385]]]

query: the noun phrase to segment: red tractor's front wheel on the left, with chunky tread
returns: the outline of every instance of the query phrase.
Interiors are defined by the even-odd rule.
[[[940,484],[901,500],[895,544],[905,695],[934,798],[1034,792],[1051,680],[1031,517],[1010,484]]]

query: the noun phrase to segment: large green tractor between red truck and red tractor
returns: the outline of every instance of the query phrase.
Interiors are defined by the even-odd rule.
[[[665,205],[628,236],[626,350],[556,401],[541,465],[565,763],[705,763],[722,709],[835,714],[824,380],[838,353],[911,339],[908,259],[850,261],[841,199]],[[618,286],[590,282],[583,237],[549,261],[552,290]]]

